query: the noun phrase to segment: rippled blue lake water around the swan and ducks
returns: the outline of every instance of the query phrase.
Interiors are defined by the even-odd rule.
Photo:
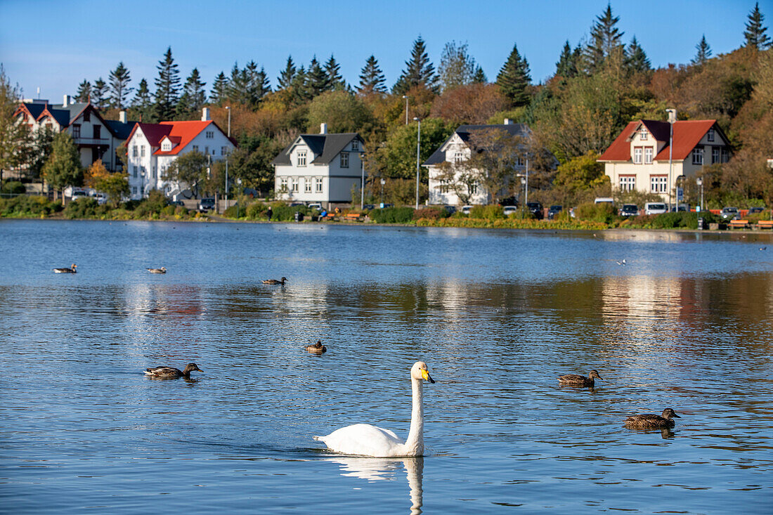
[[[773,511],[767,235],[2,221],[0,262],[4,513]],[[404,438],[420,359],[425,458],[312,440]]]

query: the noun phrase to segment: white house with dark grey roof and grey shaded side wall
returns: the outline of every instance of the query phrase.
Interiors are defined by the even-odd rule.
[[[363,138],[356,132],[301,134],[271,162],[274,192],[281,200],[349,203],[352,189],[362,186]]]

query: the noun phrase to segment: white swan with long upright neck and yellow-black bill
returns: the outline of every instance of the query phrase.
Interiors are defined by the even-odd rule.
[[[331,451],[345,454],[390,458],[396,456],[424,455],[424,408],[421,406],[422,380],[434,383],[427,370],[427,364],[417,361],[410,368],[410,386],[413,391],[414,407],[410,412],[410,430],[405,442],[389,429],[375,425],[355,424],[340,428],[327,436],[315,436]]]

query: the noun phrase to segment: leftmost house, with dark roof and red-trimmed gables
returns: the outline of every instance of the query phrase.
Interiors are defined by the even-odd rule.
[[[105,120],[90,102],[73,102],[70,95],[64,95],[62,104],[25,99],[16,108],[14,117],[33,132],[46,127],[55,133],[69,132],[80,151],[83,167],[101,159],[110,171],[121,169],[115,151],[135,124],[126,120],[126,111],[121,111],[119,120]]]

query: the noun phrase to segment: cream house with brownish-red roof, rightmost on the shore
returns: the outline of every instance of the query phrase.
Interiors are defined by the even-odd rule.
[[[613,189],[656,193],[667,201],[678,179],[694,179],[703,166],[729,159],[730,142],[716,120],[674,121],[673,135],[668,121],[636,120],[598,162],[604,163]]]

